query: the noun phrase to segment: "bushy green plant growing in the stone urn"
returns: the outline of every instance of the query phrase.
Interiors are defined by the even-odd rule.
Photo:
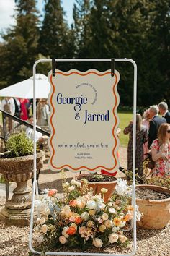
[[[12,135],[6,142],[6,150],[9,157],[17,157],[33,154],[33,142],[25,132]]]

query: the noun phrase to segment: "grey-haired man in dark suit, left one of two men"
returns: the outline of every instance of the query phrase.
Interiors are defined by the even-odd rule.
[[[150,106],[148,112],[149,118],[151,120],[148,131],[148,148],[150,148],[153,140],[155,140],[158,137],[158,128],[161,126],[161,124],[166,123],[166,119],[164,117],[158,116],[157,105]]]

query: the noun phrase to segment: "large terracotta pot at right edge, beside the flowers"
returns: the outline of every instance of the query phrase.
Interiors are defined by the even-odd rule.
[[[170,220],[170,189],[155,185],[138,185],[137,189],[151,189],[166,195],[165,199],[151,200],[136,198],[136,204],[143,213],[137,226],[143,229],[163,229]]]

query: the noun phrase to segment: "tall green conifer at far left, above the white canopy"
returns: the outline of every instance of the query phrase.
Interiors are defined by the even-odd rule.
[[[17,24],[2,35],[1,85],[19,82],[32,74],[37,56],[38,17],[35,0],[15,0]]]

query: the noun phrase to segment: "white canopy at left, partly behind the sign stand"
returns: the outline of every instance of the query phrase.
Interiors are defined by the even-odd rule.
[[[50,83],[44,74],[36,74],[36,98],[48,98]],[[0,97],[33,98],[33,77],[0,90]]]

